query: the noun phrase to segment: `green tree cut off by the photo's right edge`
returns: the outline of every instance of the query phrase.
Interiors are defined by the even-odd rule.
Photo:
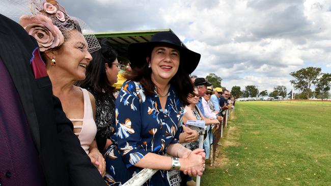
[[[329,97],[328,91],[331,86],[331,74],[323,74],[322,77],[318,80],[315,88],[316,98],[320,98],[322,100],[327,99]]]

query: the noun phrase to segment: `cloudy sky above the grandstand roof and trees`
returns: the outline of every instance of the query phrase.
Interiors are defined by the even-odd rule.
[[[331,73],[331,0],[58,0],[94,32],[171,28],[222,85],[292,89],[290,72]]]

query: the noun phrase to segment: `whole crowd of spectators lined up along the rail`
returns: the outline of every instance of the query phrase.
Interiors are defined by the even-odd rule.
[[[21,16],[22,27],[0,17],[0,47],[7,51],[0,51],[6,102],[0,104],[6,134],[0,154],[12,157],[12,163],[0,161],[0,173],[7,173],[0,185],[121,185],[144,168],[158,170],[144,185],[195,185],[192,176],[205,170],[231,96],[203,77],[189,77],[201,55],[171,32],[130,44],[131,68],[115,96],[114,48],[86,40],[79,21],[57,1],[35,5],[39,13]],[[189,120],[205,123],[203,149]],[[11,131],[21,134],[23,158],[11,148],[17,147]]]

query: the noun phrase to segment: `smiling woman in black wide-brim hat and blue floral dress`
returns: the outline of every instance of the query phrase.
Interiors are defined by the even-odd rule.
[[[200,54],[183,47],[171,32],[131,44],[128,52],[132,70],[116,100],[122,160],[132,173],[159,169],[145,185],[170,185],[167,170],[201,175],[204,150],[191,151],[178,143],[183,106],[189,104],[188,94],[194,91],[188,74],[198,66]],[[165,153],[174,158],[162,156]]]

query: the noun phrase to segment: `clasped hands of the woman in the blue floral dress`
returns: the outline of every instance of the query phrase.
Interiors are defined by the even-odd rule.
[[[198,148],[188,154],[187,158],[183,159],[182,170],[184,174],[192,176],[201,176],[205,168],[206,153],[204,149]]]

